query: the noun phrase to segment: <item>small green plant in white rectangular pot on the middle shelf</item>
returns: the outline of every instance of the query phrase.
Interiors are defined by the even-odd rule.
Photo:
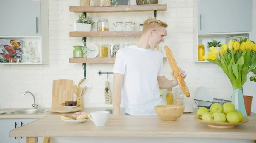
[[[85,17],[84,14],[79,15],[79,19],[74,23],[75,31],[90,32],[95,24],[92,17]]]

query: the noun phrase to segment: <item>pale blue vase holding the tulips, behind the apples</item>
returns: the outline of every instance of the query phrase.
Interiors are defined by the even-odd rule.
[[[247,116],[244,105],[244,95],[241,89],[233,89],[231,103],[235,105],[236,110],[242,112],[244,117]]]

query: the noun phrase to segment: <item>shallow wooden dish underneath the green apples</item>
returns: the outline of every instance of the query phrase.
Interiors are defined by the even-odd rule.
[[[228,122],[220,123],[220,122],[204,121],[204,120],[200,119],[198,116],[195,116],[194,119],[196,121],[199,121],[201,123],[205,123],[208,126],[214,127],[214,128],[233,128],[234,126],[241,125],[241,124],[247,123],[249,121],[249,119],[247,117],[244,117],[243,121],[241,121],[239,123],[228,123]]]

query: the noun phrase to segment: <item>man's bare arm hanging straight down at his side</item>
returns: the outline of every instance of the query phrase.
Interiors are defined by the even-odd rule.
[[[114,115],[120,114],[120,104],[121,104],[121,91],[122,84],[124,81],[124,75],[119,73],[114,73],[114,84],[113,84],[113,110]]]

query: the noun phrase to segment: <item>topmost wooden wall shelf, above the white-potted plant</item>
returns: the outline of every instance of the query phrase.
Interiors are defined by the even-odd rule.
[[[166,11],[167,4],[151,5],[119,5],[119,6],[70,6],[70,12],[75,13],[107,13],[107,12],[137,12]]]

